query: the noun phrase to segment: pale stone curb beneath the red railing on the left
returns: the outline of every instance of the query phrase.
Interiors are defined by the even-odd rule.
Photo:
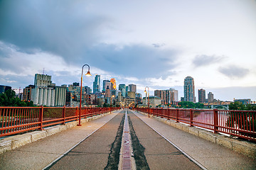
[[[89,118],[83,118],[81,119],[81,124],[90,122],[92,120],[96,120],[97,118],[101,118],[102,116],[109,115],[109,113],[103,113],[100,115],[94,115]],[[61,132],[63,130],[68,130],[70,128],[74,128],[78,125],[78,121],[66,123],[65,125],[55,125],[50,128],[45,128],[41,131],[33,131],[28,132],[22,135],[14,135],[11,137],[6,137],[3,140],[0,140],[0,154],[3,154],[9,150],[15,149],[17,147],[21,147],[23,145],[29,144],[31,142],[35,142],[37,140],[41,140],[45,137],[48,137],[50,135],[54,135],[58,132]]]

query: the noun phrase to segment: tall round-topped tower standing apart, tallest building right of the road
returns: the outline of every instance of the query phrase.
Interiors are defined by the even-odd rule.
[[[196,102],[195,85],[192,77],[184,79],[184,100]]]

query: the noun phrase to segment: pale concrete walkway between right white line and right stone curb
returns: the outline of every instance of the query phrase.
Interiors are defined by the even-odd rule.
[[[132,111],[132,113],[182,149],[196,162],[206,167],[206,169],[256,169],[256,161],[254,159],[203,140],[188,132],[178,130],[153,118],[148,118],[147,115],[136,111]]]

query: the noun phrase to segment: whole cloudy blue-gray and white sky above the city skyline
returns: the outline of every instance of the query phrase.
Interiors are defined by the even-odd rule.
[[[43,69],[72,84],[83,64],[87,86],[100,74],[180,98],[191,76],[197,101],[202,88],[256,101],[256,1],[0,0],[0,84],[23,89]]]

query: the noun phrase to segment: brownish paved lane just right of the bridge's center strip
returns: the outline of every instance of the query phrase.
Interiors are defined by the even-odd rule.
[[[167,142],[163,137],[157,134],[148,125],[143,123],[136,115],[129,111],[129,119],[131,123],[132,146],[134,147],[135,161],[141,163],[143,156],[137,160],[137,155],[140,155],[140,150],[144,150],[145,162],[149,169],[201,169],[200,166],[191,162],[182,152],[176,147]],[[135,140],[133,139],[133,131]],[[136,141],[138,138],[138,142]],[[141,145],[141,146],[139,146]],[[141,149],[142,148],[142,149]],[[137,165],[138,166],[138,165]],[[139,169],[143,169],[142,168]]]

